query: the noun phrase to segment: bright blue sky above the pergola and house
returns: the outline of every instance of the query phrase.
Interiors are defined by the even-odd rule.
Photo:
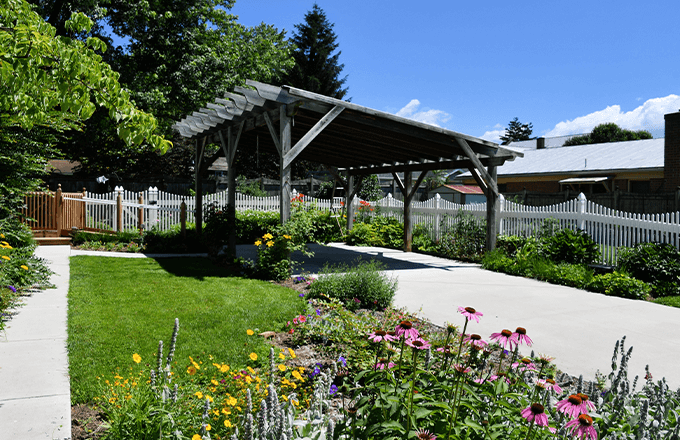
[[[497,141],[602,122],[656,130],[680,110],[680,2],[319,0],[352,102]],[[313,0],[237,0],[239,22],[288,31]]]

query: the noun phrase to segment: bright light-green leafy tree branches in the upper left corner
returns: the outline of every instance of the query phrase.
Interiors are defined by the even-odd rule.
[[[92,21],[73,14],[65,26],[87,31]],[[130,149],[145,143],[166,151],[171,143],[155,134],[156,119],[138,110],[118,82],[118,74],[86,41],[57,37],[24,0],[0,5],[0,215],[15,211],[25,191],[37,186],[32,176],[54,153],[56,135],[79,129],[95,111],[105,108],[117,136]],[[93,102],[94,101],[94,102]],[[44,169],[44,168],[43,168]]]

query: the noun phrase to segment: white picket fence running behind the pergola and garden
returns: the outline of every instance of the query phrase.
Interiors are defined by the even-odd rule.
[[[180,205],[187,205],[187,221],[194,221],[195,197],[180,196],[149,188],[142,193],[125,191],[117,187],[107,194],[85,193],[86,226],[88,228],[115,230],[118,224],[117,199],[122,199],[122,229],[139,228],[140,211],[142,211],[144,229],[157,228],[167,230],[180,223]],[[143,202],[140,204],[140,196]],[[295,197],[299,195],[294,193]],[[316,199],[299,196],[304,202],[302,206],[322,210],[339,210],[342,198],[334,200]],[[227,192],[203,196],[203,207],[210,204],[224,206],[227,203]],[[364,205],[355,199],[357,215],[382,215],[394,217],[403,222],[402,201],[387,197]],[[364,202],[365,203],[365,202]],[[496,216],[499,221],[499,233],[505,235],[529,236],[535,234],[546,219],[555,221],[564,228],[582,229],[586,231],[602,250],[601,263],[614,264],[617,250],[621,247],[634,246],[641,242],[664,242],[680,249],[680,212],[667,214],[632,214],[614,211],[588,201],[585,195],[568,202],[551,206],[524,206],[500,198],[500,209]],[[237,210],[278,211],[279,197],[250,197],[236,193]],[[472,215],[483,221],[486,218],[486,203],[461,205],[440,198],[424,202],[412,203],[413,225],[425,226],[430,236],[439,239],[460,219],[461,213]]]

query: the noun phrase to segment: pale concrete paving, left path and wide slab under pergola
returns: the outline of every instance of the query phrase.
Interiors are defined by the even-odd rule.
[[[608,374],[614,344],[626,335],[634,346],[629,376],[644,377],[649,364],[654,379],[665,376],[671,388],[680,387],[680,309],[556,286],[482,270],[460,263],[393,249],[343,244],[313,246],[315,256],[299,256],[300,272],[316,274],[324,264],[352,263],[375,258],[396,276],[395,305],[432,322],[462,326],[458,306],[484,314],[468,332],[488,339],[504,328],[525,327],[535,352],[556,358],[560,369],[593,379]],[[239,256],[254,258],[254,246],[239,246]],[[43,246],[56,274],[56,289],[35,292],[0,335],[0,437],[68,439],[70,389],[66,353],[66,312],[71,255],[127,258],[160,257],[142,254],[72,251],[68,246]],[[169,255],[164,255],[168,257]],[[173,255],[182,256],[182,255]],[[528,353],[527,353],[528,354]]]

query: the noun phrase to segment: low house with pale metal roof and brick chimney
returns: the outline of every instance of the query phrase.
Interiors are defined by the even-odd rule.
[[[659,139],[546,148],[539,138],[535,149],[521,149],[523,158],[498,168],[499,190],[557,193],[569,189],[586,195],[614,190],[674,192],[680,186],[680,111],[664,119],[665,138]],[[453,182],[476,183],[469,172]]]

